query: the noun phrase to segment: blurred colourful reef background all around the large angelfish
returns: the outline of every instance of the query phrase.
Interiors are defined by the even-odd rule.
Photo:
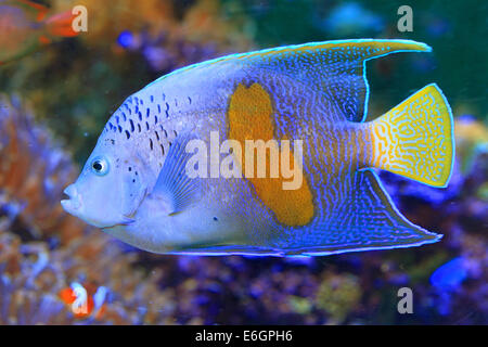
[[[0,324],[487,324],[488,3],[411,1],[411,33],[397,27],[402,4],[0,0],[0,27],[17,28],[0,31]],[[75,5],[88,30],[54,27]],[[369,116],[431,82],[449,100],[449,187],[381,172],[399,209],[444,234],[439,243],[317,258],[164,256],[62,210],[108,117],[157,77],[229,53],[351,38],[433,48],[368,63]],[[397,311],[401,287],[413,292],[412,314]]]

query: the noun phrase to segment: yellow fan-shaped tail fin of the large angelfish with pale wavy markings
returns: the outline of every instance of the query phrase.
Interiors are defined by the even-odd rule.
[[[437,85],[428,85],[371,121],[372,166],[424,184],[446,187],[454,156],[452,114]]]

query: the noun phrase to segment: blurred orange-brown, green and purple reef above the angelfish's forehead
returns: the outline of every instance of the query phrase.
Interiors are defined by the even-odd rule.
[[[232,21],[226,15],[232,3],[49,2],[52,13],[85,5],[88,31],[2,66],[0,90],[29,100],[36,117],[65,140],[78,162],[94,145],[110,114],[136,90],[178,67],[253,47],[243,29],[248,26],[245,15]],[[232,11],[242,13],[239,8]]]

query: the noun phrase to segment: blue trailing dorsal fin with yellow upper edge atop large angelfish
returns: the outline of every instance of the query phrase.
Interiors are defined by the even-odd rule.
[[[311,85],[336,104],[347,120],[363,121],[369,99],[364,63],[409,51],[429,52],[431,48],[411,40],[361,39],[288,46],[229,59]]]

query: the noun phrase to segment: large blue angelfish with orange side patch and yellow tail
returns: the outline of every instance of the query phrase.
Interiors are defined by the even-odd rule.
[[[410,40],[316,42],[163,76],[113,114],[62,205],[163,254],[319,256],[434,243],[441,235],[407,220],[373,168],[446,187],[454,154],[446,98],[432,83],[365,121],[364,63],[407,51],[431,48]],[[285,190],[283,176],[191,177],[189,168],[211,165],[195,162],[203,150],[189,144],[209,143],[216,131],[232,141],[220,156],[234,157],[226,163],[237,170],[246,159],[236,149],[246,140],[301,140],[301,163],[293,163],[296,146],[284,155],[301,170],[300,187]],[[269,171],[271,155],[265,162]]]

